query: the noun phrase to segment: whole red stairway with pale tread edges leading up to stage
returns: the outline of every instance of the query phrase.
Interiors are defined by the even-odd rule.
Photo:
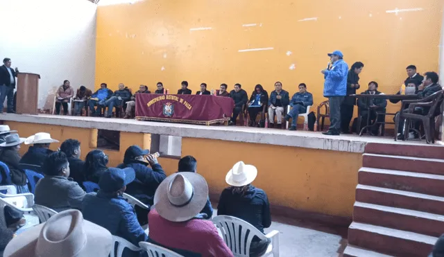
[[[427,256],[444,233],[444,147],[368,143],[343,256]]]

